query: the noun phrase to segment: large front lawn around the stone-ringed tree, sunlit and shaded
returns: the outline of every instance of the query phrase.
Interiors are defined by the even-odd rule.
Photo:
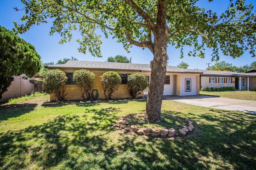
[[[162,112],[189,117],[185,137],[124,133],[115,121],[144,111],[145,101],[42,106],[49,96],[0,106],[0,169],[244,169],[256,167],[256,115],[163,100]],[[36,99],[36,100],[35,100]],[[23,101],[23,102],[21,102]],[[175,128],[180,119],[142,117],[138,127]]]

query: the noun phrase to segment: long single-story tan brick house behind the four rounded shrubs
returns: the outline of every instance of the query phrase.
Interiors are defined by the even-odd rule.
[[[82,100],[81,89],[72,82],[73,73],[76,70],[86,69],[95,74],[93,89],[99,92],[98,98],[105,98],[102,85],[100,84],[100,76],[104,72],[115,71],[122,78],[122,84],[113,93],[112,98],[131,98],[128,92],[127,77],[129,74],[140,73],[146,76],[148,82],[150,80],[151,68],[149,64],[131,64],[131,63],[111,63],[111,62],[93,62],[93,61],[68,61],[65,64],[48,65],[48,69],[60,69],[66,73],[68,77],[65,100]],[[164,84],[164,95],[197,95],[199,94],[199,78],[201,71],[177,68],[167,66],[166,78]],[[147,90],[144,91],[145,94]],[[142,93],[138,97],[142,97]],[[50,100],[56,100],[53,94]]]

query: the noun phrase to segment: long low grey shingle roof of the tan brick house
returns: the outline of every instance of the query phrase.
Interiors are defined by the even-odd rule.
[[[112,63],[112,62],[98,62],[98,61],[68,61],[65,64],[48,65],[46,68],[50,69],[87,69],[87,70],[123,70],[136,72],[151,72],[149,64],[133,64],[133,63]],[[167,66],[166,72],[177,73],[202,73],[202,71],[192,69],[182,69],[174,66]]]

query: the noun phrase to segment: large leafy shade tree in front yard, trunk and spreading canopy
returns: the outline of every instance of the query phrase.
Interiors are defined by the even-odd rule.
[[[212,0],[208,0],[209,2]],[[100,54],[99,29],[108,33],[126,50],[132,45],[148,48],[154,55],[145,119],[160,121],[164,77],[168,61],[167,45],[181,51],[191,46],[189,56],[204,57],[204,49],[212,49],[212,60],[224,55],[239,57],[248,50],[255,56],[255,15],[252,4],[230,0],[227,10],[216,14],[198,7],[198,0],[22,0],[26,14],[24,25],[14,22],[16,31],[23,33],[32,25],[53,18],[50,34],[62,35],[60,43],[71,40],[72,31],[82,36],[79,51]],[[96,31],[97,30],[97,31]]]

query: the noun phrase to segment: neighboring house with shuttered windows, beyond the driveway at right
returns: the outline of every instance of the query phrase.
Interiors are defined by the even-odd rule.
[[[234,87],[236,90],[256,90],[255,73],[238,73],[231,71],[201,70],[201,90],[206,88]]]

